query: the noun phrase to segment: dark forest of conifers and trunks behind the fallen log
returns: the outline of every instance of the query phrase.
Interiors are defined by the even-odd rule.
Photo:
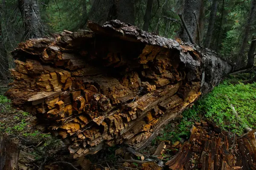
[[[88,20],[117,19],[189,42],[178,14],[196,44],[217,51],[236,68],[253,66],[256,0],[1,0],[0,79],[9,80],[10,52],[19,42],[87,29]]]

